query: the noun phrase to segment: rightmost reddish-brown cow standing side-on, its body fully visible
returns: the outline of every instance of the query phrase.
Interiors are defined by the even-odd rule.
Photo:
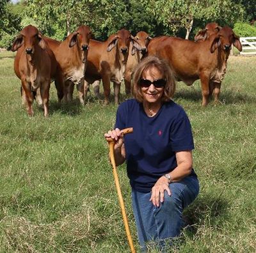
[[[230,27],[225,26],[219,33],[211,34],[200,43],[168,36],[154,38],[148,45],[148,55],[166,59],[177,81],[190,86],[200,79],[202,105],[205,106],[209,103],[212,91],[215,102],[218,102],[231,44],[239,51],[242,50],[239,38]]]

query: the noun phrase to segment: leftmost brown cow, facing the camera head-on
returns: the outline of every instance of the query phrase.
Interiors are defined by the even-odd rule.
[[[42,96],[44,116],[49,113],[49,88],[51,79],[55,79],[59,101],[63,97],[63,85],[58,75],[57,62],[42,34],[35,26],[26,26],[17,36],[12,45],[12,51],[17,51],[14,60],[14,71],[21,80],[22,98],[26,104],[29,116],[33,116],[32,91]]]

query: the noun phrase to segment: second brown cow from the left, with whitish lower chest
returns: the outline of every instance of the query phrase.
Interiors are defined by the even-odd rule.
[[[63,42],[44,37],[60,65],[64,86],[64,102],[72,100],[74,84],[77,84],[79,100],[84,104],[84,72],[87,65],[88,45],[92,32],[88,26],[79,26]]]

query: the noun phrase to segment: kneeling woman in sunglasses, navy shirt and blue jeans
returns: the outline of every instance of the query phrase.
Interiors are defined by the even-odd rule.
[[[146,57],[134,71],[134,99],[120,104],[115,130],[104,135],[116,141],[116,165],[126,160],[143,250],[150,241],[164,250],[166,239],[179,236],[182,211],[199,192],[192,168],[191,125],[182,107],[170,99],[174,92],[168,64],[155,56]],[[127,127],[133,133],[123,136],[120,130]]]

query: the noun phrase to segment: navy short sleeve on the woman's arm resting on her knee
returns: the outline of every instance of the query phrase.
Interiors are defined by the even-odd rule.
[[[191,124],[185,112],[182,118],[173,121],[170,130],[170,142],[173,151],[186,151],[195,148]]]

